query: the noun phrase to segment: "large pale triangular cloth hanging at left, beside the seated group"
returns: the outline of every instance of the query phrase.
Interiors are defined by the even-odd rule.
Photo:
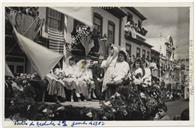
[[[35,71],[41,76],[41,78],[44,78],[60,61],[63,55],[26,38],[18,33],[15,28],[14,31],[20,48],[32,63]]]

